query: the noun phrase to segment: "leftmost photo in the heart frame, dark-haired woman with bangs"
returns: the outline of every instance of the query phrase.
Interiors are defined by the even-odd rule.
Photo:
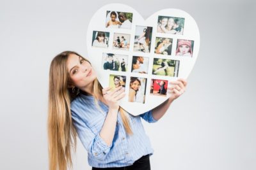
[[[92,46],[108,48],[109,32],[93,31]]]

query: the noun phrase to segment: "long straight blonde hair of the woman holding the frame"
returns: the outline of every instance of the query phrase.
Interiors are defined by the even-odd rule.
[[[72,83],[67,69],[70,54],[82,57],[76,52],[62,52],[54,57],[50,66],[47,122],[50,170],[67,170],[67,167],[72,167],[72,149],[76,152],[77,134],[72,124],[70,103],[77,93],[72,93],[73,90],[69,88]],[[99,106],[97,101],[102,97],[102,86],[97,78],[93,81],[93,96]],[[119,111],[125,131],[132,134],[126,112],[122,108]]]

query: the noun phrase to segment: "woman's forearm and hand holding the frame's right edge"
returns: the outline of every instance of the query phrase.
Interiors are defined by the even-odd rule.
[[[171,87],[168,87],[171,92],[171,97],[152,110],[152,116],[155,120],[159,120],[163,117],[172,102],[186,91],[187,81],[184,79],[171,81],[171,84]]]

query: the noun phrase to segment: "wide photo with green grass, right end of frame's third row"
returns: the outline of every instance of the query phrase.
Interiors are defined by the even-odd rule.
[[[152,74],[177,77],[179,73],[179,63],[179,60],[154,59]]]

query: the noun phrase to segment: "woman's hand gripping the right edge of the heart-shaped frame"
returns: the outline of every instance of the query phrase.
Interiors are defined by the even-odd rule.
[[[184,94],[188,82],[185,79],[180,78],[177,81],[171,81],[170,83],[171,85],[168,87],[168,92],[170,92],[171,96],[169,99],[173,101]]]

